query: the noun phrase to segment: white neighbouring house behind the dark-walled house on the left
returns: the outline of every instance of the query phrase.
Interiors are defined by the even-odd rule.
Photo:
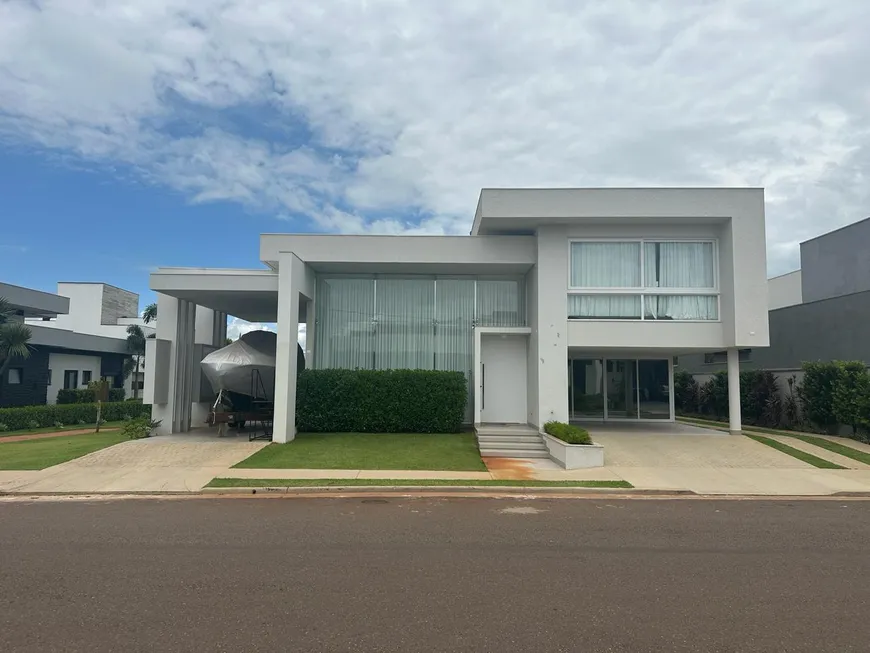
[[[31,326],[46,327],[72,331],[77,334],[88,334],[110,338],[113,342],[113,351],[118,350],[119,344],[122,352],[127,352],[127,327],[138,324],[145,336],[153,336],[157,325],[152,322],[146,325],[139,316],[139,295],[123,290],[107,283],[91,282],[67,282],[57,284],[57,294],[69,299],[69,311],[58,315],[56,318],[43,320],[28,319],[26,322]],[[145,381],[145,357],[139,363],[139,369],[122,381],[117,380],[117,375],[111,375],[116,387],[123,387],[128,397],[136,392],[142,396]],[[122,384],[122,385],[121,385]],[[85,384],[86,385],[86,384]],[[57,396],[57,393],[54,393]],[[49,403],[53,403],[49,392]]]

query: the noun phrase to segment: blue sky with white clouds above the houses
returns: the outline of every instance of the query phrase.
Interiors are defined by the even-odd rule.
[[[0,280],[467,233],[482,187],[763,186],[768,272],[870,215],[866,0],[4,0]],[[233,333],[246,330],[234,324]]]

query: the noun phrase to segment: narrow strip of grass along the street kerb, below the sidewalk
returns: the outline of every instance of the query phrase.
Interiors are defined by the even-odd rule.
[[[511,481],[461,479],[393,479],[393,478],[215,478],[206,487],[349,487],[349,486],[394,486],[394,487],[609,487],[632,488],[628,481]]]

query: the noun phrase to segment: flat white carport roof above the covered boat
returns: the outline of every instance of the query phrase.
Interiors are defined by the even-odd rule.
[[[272,270],[159,268],[149,286],[249,322],[278,319],[278,275]]]

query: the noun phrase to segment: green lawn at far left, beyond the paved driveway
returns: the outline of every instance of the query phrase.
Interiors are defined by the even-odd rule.
[[[0,442],[0,470],[45,469],[126,440],[120,431]]]

